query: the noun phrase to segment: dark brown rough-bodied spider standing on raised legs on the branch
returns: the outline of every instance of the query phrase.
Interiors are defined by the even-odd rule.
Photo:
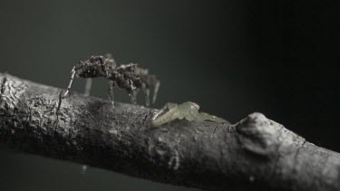
[[[86,78],[85,95],[90,94],[92,78],[105,78],[109,80],[108,95],[109,100],[113,100],[113,88],[118,87],[129,93],[131,102],[136,104],[138,91],[145,93],[145,104],[150,105],[150,91],[153,90],[152,103],[154,104],[157,98],[157,93],[160,88],[160,81],[155,75],[149,74],[148,69],[137,67],[137,63],[121,64],[113,60],[111,54],[105,56],[91,56],[87,61],[80,61],[71,71],[71,78],[67,90],[63,97],[66,97],[71,89],[74,78]]]

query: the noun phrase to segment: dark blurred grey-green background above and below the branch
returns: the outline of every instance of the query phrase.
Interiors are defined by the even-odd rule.
[[[333,2],[0,0],[0,72],[65,88],[78,61],[112,53],[158,75],[155,108],[191,100],[233,123],[259,111],[339,152]],[[93,81],[92,95],[106,90]],[[196,190],[5,148],[0,169],[0,190]]]

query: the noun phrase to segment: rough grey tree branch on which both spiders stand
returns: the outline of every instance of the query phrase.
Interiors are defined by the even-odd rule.
[[[260,113],[234,125],[175,120],[0,73],[0,144],[208,190],[340,190],[340,154]]]

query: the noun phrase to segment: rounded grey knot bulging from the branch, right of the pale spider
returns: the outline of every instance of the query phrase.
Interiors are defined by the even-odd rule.
[[[247,151],[263,157],[275,154],[281,130],[261,113],[252,113],[237,124],[238,142]]]

